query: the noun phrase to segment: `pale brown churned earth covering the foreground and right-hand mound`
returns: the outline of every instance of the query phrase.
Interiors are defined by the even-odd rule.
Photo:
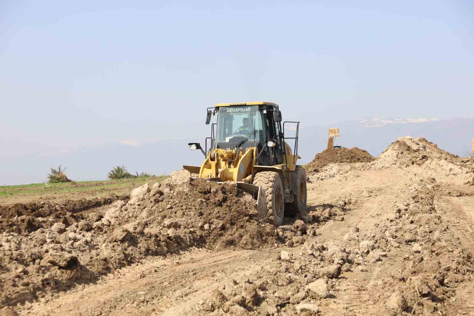
[[[2,312],[474,315],[474,186],[469,184],[474,159],[460,160],[426,140],[406,138],[374,162],[328,165],[309,174],[308,214],[285,218],[276,230],[257,223],[253,211],[246,208],[251,200],[234,195],[232,186],[205,189],[200,182],[187,184],[186,175],[176,173],[162,185],[132,192],[127,204],[118,207],[120,213],[111,212],[113,216],[104,215],[110,206],[88,210],[95,225],[89,231],[77,228],[88,219],[79,216],[57,235],[49,225],[45,232],[38,229],[24,236],[4,232],[0,270],[2,281],[8,281],[5,284],[21,289],[21,279],[30,283],[35,283],[32,275],[47,279],[38,270],[21,270],[19,261],[11,259],[19,257],[18,252],[5,251],[7,247],[22,250],[28,238],[39,238],[41,233],[49,233],[50,242],[44,243],[43,252],[38,248],[37,255],[46,257],[52,249],[63,256],[71,253],[80,263],[60,268],[37,259],[23,264],[44,267],[53,281],[40,282],[31,296],[5,286],[3,291],[9,291],[10,297],[4,302],[11,303]],[[186,203],[167,200],[169,194]],[[187,199],[197,195],[206,203],[201,205],[203,214]],[[213,200],[215,195],[220,198]],[[242,214],[238,214],[239,203],[245,205]],[[173,210],[180,219],[171,223]],[[223,216],[222,211],[231,215]],[[248,220],[238,221],[242,215]],[[98,223],[99,218],[110,223]],[[178,224],[181,228],[173,230]],[[153,225],[161,229],[150,232]],[[118,232],[120,227],[127,232]],[[245,233],[239,235],[238,229]],[[62,238],[72,230],[75,242],[65,245]],[[96,241],[84,241],[84,248],[76,246],[87,236]],[[152,248],[150,241],[159,245],[153,253],[143,248]],[[102,242],[110,252],[102,249]],[[51,243],[57,249],[48,246]],[[133,258],[118,260],[120,251]],[[94,258],[100,262],[105,258],[109,264],[93,270],[88,262],[97,264]],[[92,271],[90,277],[75,275],[66,282],[86,268]],[[55,269],[76,272],[64,277]],[[23,288],[33,289],[31,284]]]

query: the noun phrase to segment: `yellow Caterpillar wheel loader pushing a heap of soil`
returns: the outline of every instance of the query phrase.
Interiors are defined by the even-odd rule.
[[[272,102],[219,103],[207,109],[206,124],[213,116],[217,120],[204,149],[200,143],[188,144],[191,150],[201,150],[204,161],[183,168],[210,181],[235,181],[257,200],[259,219],[275,226],[283,223],[285,214],[306,210],[306,172],[296,164],[301,158],[300,122],[282,124],[282,112]],[[295,137],[285,138],[287,123],[293,124]],[[294,140],[293,151],[286,139]]]

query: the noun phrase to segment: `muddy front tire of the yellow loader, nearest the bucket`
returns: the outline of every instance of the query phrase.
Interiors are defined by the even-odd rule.
[[[280,226],[283,223],[285,212],[285,190],[282,179],[278,173],[273,171],[262,171],[255,175],[255,186],[262,186],[267,198],[267,217],[273,219],[273,225]]]

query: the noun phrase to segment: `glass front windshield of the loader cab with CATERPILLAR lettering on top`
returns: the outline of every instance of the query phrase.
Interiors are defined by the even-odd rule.
[[[253,130],[257,130],[256,139],[252,135],[248,141],[260,142],[260,139],[263,139],[262,126],[262,115],[258,111],[258,105],[219,107],[217,142],[238,143]]]

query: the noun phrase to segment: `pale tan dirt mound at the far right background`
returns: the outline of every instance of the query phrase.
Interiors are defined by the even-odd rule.
[[[427,139],[406,136],[385,149],[371,167],[418,168],[424,176],[464,185],[473,181],[474,157],[462,158],[439,149],[438,145]],[[414,172],[411,169],[409,171]]]

